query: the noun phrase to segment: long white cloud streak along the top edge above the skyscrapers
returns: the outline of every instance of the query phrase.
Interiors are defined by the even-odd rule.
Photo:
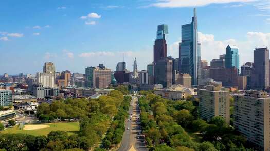
[[[168,7],[168,8],[176,8],[176,7],[199,7],[206,6],[209,4],[225,4],[232,2],[253,2],[256,0],[158,0],[156,3],[151,4],[150,6],[154,7]]]

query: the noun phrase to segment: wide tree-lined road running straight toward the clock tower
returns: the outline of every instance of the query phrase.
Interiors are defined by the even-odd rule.
[[[147,151],[145,139],[141,135],[141,127],[139,122],[140,109],[138,98],[132,96],[129,118],[125,122],[125,132],[118,151]]]

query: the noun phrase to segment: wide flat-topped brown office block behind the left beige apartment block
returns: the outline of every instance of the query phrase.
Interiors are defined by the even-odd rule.
[[[237,68],[210,68],[210,78],[222,82],[224,87],[236,87],[238,85]]]

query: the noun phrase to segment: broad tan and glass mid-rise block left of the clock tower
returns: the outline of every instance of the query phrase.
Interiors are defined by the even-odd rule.
[[[98,67],[87,67],[85,78],[85,87],[106,88],[111,83],[111,69],[105,68],[103,64],[99,64]]]

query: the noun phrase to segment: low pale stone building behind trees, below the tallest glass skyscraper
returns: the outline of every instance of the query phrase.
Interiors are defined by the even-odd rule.
[[[197,94],[194,88],[186,88],[183,85],[172,85],[169,88],[156,89],[154,93],[162,98],[171,100],[181,100],[187,96]]]

